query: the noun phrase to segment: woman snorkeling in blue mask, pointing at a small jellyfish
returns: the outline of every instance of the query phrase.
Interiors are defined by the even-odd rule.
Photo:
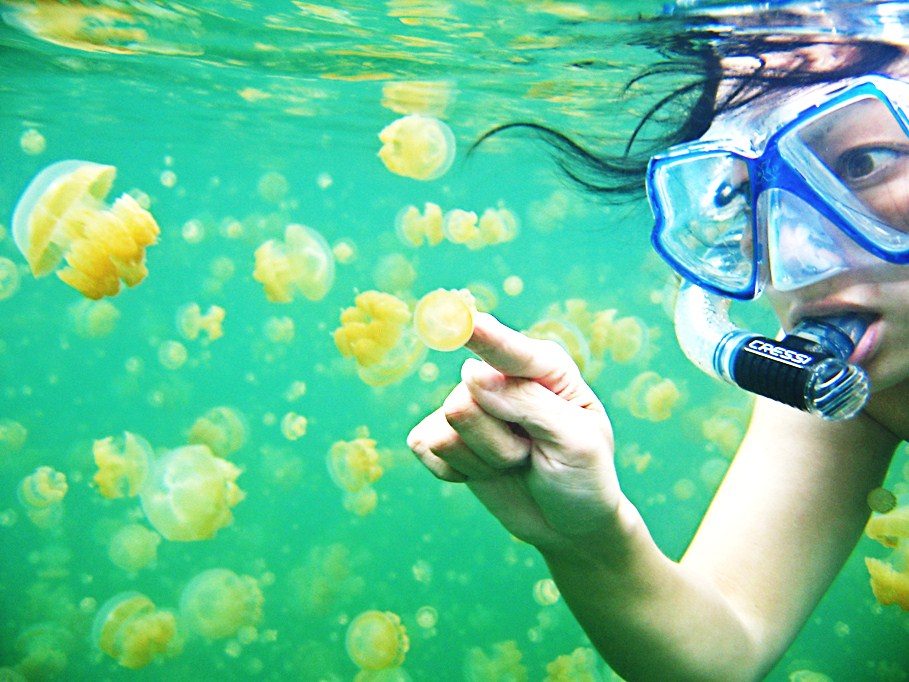
[[[684,556],[662,553],[623,494],[609,418],[567,352],[489,315],[468,342],[480,359],[408,444],[541,552],[624,678],[753,680],[845,563],[909,433],[909,9],[688,0],[672,13],[662,47],[700,64],[700,98],[650,161],[652,240],[684,280],[686,353],[774,398],[756,400]],[[725,316],[762,293],[783,342]],[[790,376],[827,360],[819,378]]]

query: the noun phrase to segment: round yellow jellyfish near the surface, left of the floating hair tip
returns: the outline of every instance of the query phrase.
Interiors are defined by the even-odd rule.
[[[396,175],[435,180],[454,162],[454,134],[448,125],[431,116],[409,114],[392,121],[379,133],[379,141],[379,158]]]

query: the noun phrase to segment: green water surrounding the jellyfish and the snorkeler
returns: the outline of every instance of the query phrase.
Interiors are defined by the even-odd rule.
[[[479,282],[496,294],[493,312],[517,328],[572,298],[641,321],[645,349],[627,363],[607,358],[593,385],[610,409],[623,486],[664,550],[684,550],[716,485],[707,472],[725,461],[702,424],[724,408],[741,413],[747,399],[701,376],[678,350],[646,206],[604,207],[571,193],[545,153],[519,139],[464,158],[479,134],[512,120],[547,122],[597,145],[621,140],[623,122],[646,109],[619,98],[621,85],[657,56],[616,36],[660,5],[104,2],[71,20],[83,5],[45,3],[56,14],[30,19],[30,5],[0,3],[0,256],[21,274],[18,291],[0,301],[0,420],[27,430],[20,447],[0,445],[0,666],[25,672],[30,652],[32,679],[352,680],[347,624],[369,609],[400,616],[410,639],[402,670],[413,680],[471,679],[471,650],[491,653],[509,640],[526,679],[543,680],[548,663],[587,645],[564,603],[535,601],[547,574],[534,550],[465,488],[436,481],[404,444],[455,384],[467,352],[430,352],[438,378],[415,373],[375,388],[333,343],[341,309],[379,286],[376,267],[395,253],[416,271],[399,292],[411,300]],[[400,115],[383,105],[383,88],[401,81],[450,92],[444,118],[459,152],[441,179],[398,177],[376,157],[378,131]],[[22,148],[29,130],[46,141],[40,153]],[[112,299],[119,318],[104,336],[77,333],[80,294],[54,276],[34,279],[10,234],[28,181],[63,159],[115,166],[111,198],[139,190],[161,227],[147,279]],[[260,191],[267,173],[286,179],[286,194]],[[478,213],[505,206],[520,233],[479,250],[407,246],[395,216],[427,201]],[[191,221],[201,238],[187,239]],[[355,247],[320,301],[272,303],[252,277],[255,249],[291,222]],[[503,291],[513,275],[524,283],[517,296]],[[190,302],[225,309],[222,338],[180,336],[176,312]],[[292,318],[292,342],[269,340],[265,324],[276,316]],[[159,362],[165,341],[186,347],[181,367]],[[616,397],[645,370],[682,392],[668,420],[635,417]],[[295,381],[307,390],[289,400]],[[221,405],[247,424],[230,456],[245,492],[233,523],[209,540],[164,540],[156,563],[136,573],[118,568],[107,556],[112,533],[146,522],[137,499],[106,500],[92,485],[92,442],[131,431],[156,449],[175,448]],[[280,428],[289,411],[308,419],[294,441]],[[375,511],[361,517],[344,508],[326,455],[364,426],[384,474]],[[649,464],[636,467],[642,453]],[[29,520],[16,492],[41,465],[69,484],[62,519],[48,529]],[[313,608],[329,552],[343,558],[343,575],[332,574]],[[862,541],[770,679],[802,668],[834,680],[907,678],[909,621],[876,606],[865,555],[883,548]],[[113,595],[139,591],[176,609],[190,579],[214,567],[258,581],[264,603],[254,630],[214,641],[189,635],[179,655],[140,670],[119,667],[90,641],[95,614]],[[429,626],[417,618],[425,607],[438,614]],[[53,655],[42,654],[42,641]]]

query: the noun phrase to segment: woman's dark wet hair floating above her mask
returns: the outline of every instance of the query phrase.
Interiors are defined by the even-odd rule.
[[[817,64],[809,48],[816,49],[825,42],[831,49],[847,50],[848,58],[834,60],[829,67]],[[643,178],[650,157],[674,144],[698,139],[718,114],[742,107],[778,88],[880,72],[905,56],[902,47],[880,41],[844,42],[799,34],[781,36],[778,31],[734,33],[715,25],[693,26],[691,19],[683,26],[675,18],[649,22],[636,44],[655,50],[662,59],[634,76],[626,90],[632,86],[643,87],[649,82],[664,83],[666,76],[683,84],[657,96],[655,104],[630,131],[621,152],[597,152],[568,133],[524,121],[506,123],[487,131],[473,144],[470,152],[490,137],[506,131],[528,133],[549,146],[564,175],[585,191],[610,203],[636,199],[643,193]],[[774,54],[787,56],[785,69],[768,61]],[[754,68],[747,73],[725,72],[724,60],[734,57],[750,58]],[[679,111],[684,113],[679,115]],[[677,123],[667,123],[672,120]],[[657,124],[660,133],[650,134],[653,127],[650,124]],[[642,136],[645,127],[649,134]]]

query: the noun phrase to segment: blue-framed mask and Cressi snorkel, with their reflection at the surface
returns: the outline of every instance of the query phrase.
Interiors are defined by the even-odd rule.
[[[765,35],[889,40],[905,38],[909,4],[680,1],[676,13]],[[884,76],[812,86],[762,118],[748,107],[726,114],[701,140],[651,159],[652,242],[684,279],[676,334],[697,366],[826,419],[862,409],[868,379],[848,358],[871,319],[806,319],[778,341],[737,329],[728,308],[767,284],[790,291],[909,263],[906,109],[909,84]]]

